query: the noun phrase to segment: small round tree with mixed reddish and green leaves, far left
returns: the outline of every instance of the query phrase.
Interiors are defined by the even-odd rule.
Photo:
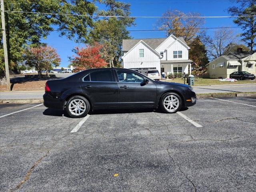
[[[38,70],[38,75],[42,74],[41,70],[46,70],[47,74],[50,68],[60,65],[60,56],[50,46],[27,48],[23,56],[25,64]]]

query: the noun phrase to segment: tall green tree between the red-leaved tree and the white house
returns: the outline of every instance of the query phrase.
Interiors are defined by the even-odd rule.
[[[106,10],[98,10],[103,16],[130,16],[130,4],[116,0],[95,0],[105,4]],[[122,40],[129,39],[126,27],[134,25],[134,18],[108,18],[96,20],[90,44],[99,42],[103,45],[103,58],[110,67],[120,66],[122,56]]]

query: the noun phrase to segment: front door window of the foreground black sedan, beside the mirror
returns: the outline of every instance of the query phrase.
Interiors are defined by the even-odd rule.
[[[128,83],[142,83],[144,78],[133,72],[123,72],[121,70],[116,70],[119,82]]]

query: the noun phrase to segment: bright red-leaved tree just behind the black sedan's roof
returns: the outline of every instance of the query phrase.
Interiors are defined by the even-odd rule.
[[[87,45],[86,48],[75,48],[77,56],[71,59],[74,71],[82,71],[90,68],[102,68],[107,65],[101,55],[102,45],[95,43],[93,46]]]

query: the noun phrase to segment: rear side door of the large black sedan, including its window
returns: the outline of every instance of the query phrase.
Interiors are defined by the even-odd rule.
[[[80,80],[80,85],[94,107],[118,106],[118,85],[113,70],[92,71]]]

